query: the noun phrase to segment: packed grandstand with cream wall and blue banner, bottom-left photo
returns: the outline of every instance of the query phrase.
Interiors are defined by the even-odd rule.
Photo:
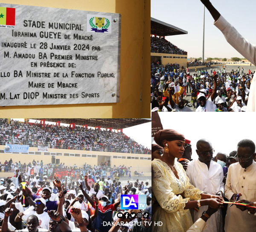
[[[148,119],[35,120],[0,119],[1,174],[13,171],[4,164],[12,158],[12,164],[20,163],[24,170],[34,161],[38,169],[41,163],[76,168],[89,164],[109,169],[122,165],[129,167],[132,174],[151,175],[151,150],[123,133],[124,128],[150,122]]]

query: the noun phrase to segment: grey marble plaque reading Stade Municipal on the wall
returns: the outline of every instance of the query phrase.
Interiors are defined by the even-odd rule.
[[[0,4],[0,105],[119,102],[120,14]]]

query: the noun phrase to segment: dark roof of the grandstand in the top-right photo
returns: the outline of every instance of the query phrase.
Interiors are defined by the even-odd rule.
[[[158,36],[169,36],[188,34],[188,32],[151,17],[151,34],[156,34]]]

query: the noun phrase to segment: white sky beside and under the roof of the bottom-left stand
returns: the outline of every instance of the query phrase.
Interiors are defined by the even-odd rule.
[[[24,119],[14,119],[20,122],[24,122]],[[34,119],[29,119],[29,122],[35,122]],[[40,121],[38,121],[40,122]],[[55,122],[45,122],[46,124],[55,124]],[[61,126],[67,126],[69,124],[61,123]],[[89,127],[94,128],[94,127]],[[105,128],[101,128],[105,129]],[[142,144],[144,147],[151,148],[151,122],[143,123],[137,126],[128,127],[123,129],[125,133],[131,139],[134,139],[137,143]]]

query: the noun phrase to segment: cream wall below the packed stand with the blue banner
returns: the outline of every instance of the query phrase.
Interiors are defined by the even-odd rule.
[[[3,150],[4,146],[0,146],[0,150]],[[36,155],[36,153],[41,153]],[[35,161],[43,161],[43,164],[50,164],[52,163],[52,155],[55,156],[56,159],[60,160],[60,163],[64,163],[66,166],[76,166],[83,167],[84,163],[90,164],[92,166],[98,165],[102,161],[110,160],[111,167],[116,165],[116,167],[119,167],[119,165],[125,165],[126,167],[132,167],[132,171],[137,170],[140,172],[144,170],[145,172],[151,171],[151,154],[132,154],[132,153],[115,153],[115,152],[98,152],[98,151],[86,151],[86,150],[68,150],[68,149],[52,149],[49,148],[48,152],[38,152],[37,147],[29,147],[29,153],[30,154],[13,154],[13,153],[3,153],[3,151],[0,152],[0,161],[1,164],[3,164],[6,160],[9,161],[10,158],[12,158],[13,162],[20,161],[22,164],[29,162],[32,163],[33,159]],[[49,153],[49,155],[45,155],[45,153]],[[54,154],[52,154],[54,153]],[[56,153],[59,153],[58,155]],[[73,154],[73,156],[64,156],[64,154]],[[91,157],[84,157],[84,155],[90,155]],[[96,157],[92,157],[96,156]],[[114,158],[114,156],[116,156]],[[127,157],[137,157],[137,159],[128,159]],[[147,158],[147,159],[144,159]],[[99,159],[99,161],[98,161]]]

